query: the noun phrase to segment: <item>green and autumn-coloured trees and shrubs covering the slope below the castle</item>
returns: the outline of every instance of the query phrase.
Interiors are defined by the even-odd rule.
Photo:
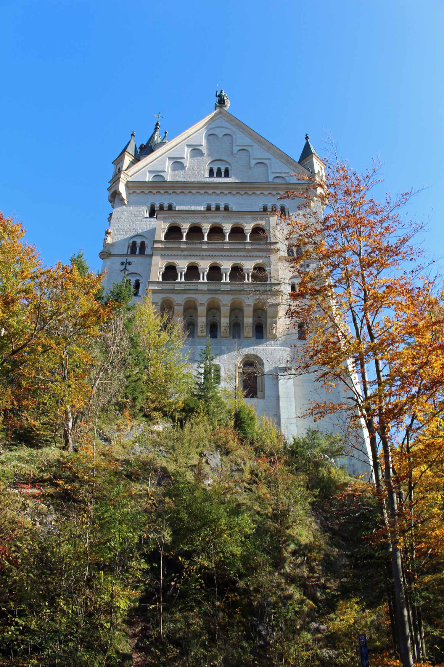
[[[340,437],[286,441],[221,392],[210,342],[192,376],[149,295],[104,295],[81,254],[44,267],[0,223],[0,664],[358,667],[358,632],[399,664],[377,498]],[[429,487],[406,586],[439,664]]]

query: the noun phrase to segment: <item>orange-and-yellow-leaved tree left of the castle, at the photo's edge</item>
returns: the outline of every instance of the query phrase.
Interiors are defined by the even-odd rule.
[[[75,417],[88,400],[91,342],[111,305],[101,277],[74,263],[45,267],[21,223],[0,214],[0,417],[6,428],[61,426],[76,447]]]

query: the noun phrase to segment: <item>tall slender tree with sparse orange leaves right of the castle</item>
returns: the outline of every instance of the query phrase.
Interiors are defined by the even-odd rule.
[[[312,404],[312,415],[342,410],[357,428],[364,425],[391,558],[401,661],[411,667],[413,656],[425,657],[415,642],[422,633],[413,627],[402,548],[412,491],[404,494],[394,460],[408,462],[425,438],[425,464],[442,464],[442,440],[432,436],[444,410],[443,319],[413,244],[421,225],[399,217],[412,192],[379,203],[371,194],[381,182],[377,173],[375,163],[361,175],[333,151],[325,177],[302,175],[306,189],[287,193],[301,199],[298,215],[287,220],[287,238],[302,247],[289,258],[297,279],[288,315],[306,331],[292,362],[296,372],[314,371],[328,391],[339,385],[348,394],[341,404]]]

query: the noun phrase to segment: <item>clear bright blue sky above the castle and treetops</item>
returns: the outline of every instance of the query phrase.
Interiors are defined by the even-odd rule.
[[[47,263],[83,247],[99,269],[111,161],[153,114],[176,134],[230,113],[298,159],[332,131],[385,187],[429,186],[409,209],[444,254],[443,0],[3,0],[0,209]]]

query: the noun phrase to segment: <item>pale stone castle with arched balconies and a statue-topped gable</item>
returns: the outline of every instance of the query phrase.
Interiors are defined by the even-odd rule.
[[[258,415],[288,437],[310,426],[337,430],[333,418],[304,417],[322,388],[313,376],[285,369],[304,329],[285,316],[297,248],[285,239],[280,215],[292,215],[298,173],[324,163],[306,135],[295,161],[228,112],[224,91],[214,111],[168,141],[154,132],[138,148],[134,132],[113,162],[112,213],[100,253],[105,288],[126,275],[137,301],[149,289],[158,311],[183,321],[190,360],[211,339],[220,382],[239,386]],[[341,400],[329,394],[329,400]],[[347,459],[368,469],[367,448]]]

